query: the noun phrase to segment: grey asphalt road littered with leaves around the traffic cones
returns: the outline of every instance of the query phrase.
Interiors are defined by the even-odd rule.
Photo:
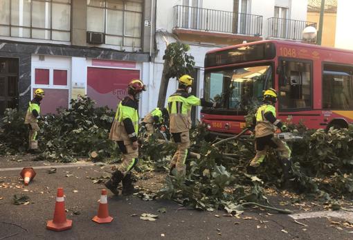
[[[0,239],[353,239],[349,229],[338,230],[325,218],[300,219],[305,226],[284,214],[251,209],[238,219],[224,216],[223,210],[189,210],[172,201],[142,201],[136,196],[111,196],[110,192],[109,214],[114,221],[98,224],[91,218],[97,214],[103,186],[93,184],[87,176],[101,176],[107,167],[62,166],[55,174],[37,169],[37,176],[26,187],[19,180],[20,171],[9,169],[57,165],[48,164],[0,158]],[[64,232],[46,230],[46,221],[53,218],[57,187],[64,187],[66,216],[73,220],[73,228]],[[26,194],[30,203],[13,205],[14,194]],[[165,213],[158,212],[161,207]],[[139,217],[143,213],[158,214],[159,218],[143,221]]]

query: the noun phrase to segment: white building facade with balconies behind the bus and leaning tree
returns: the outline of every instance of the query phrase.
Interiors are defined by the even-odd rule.
[[[156,4],[156,57],[154,84],[159,91],[163,71],[163,54],[173,41],[190,45],[194,56],[194,91],[203,96],[203,61],[208,50],[262,39],[302,40],[307,22],[307,0],[170,0]],[[170,80],[168,95],[177,89]],[[157,97],[148,108],[156,105]],[[199,110],[199,109],[198,109]],[[197,111],[199,112],[199,111]],[[196,114],[197,115],[197,114]]]

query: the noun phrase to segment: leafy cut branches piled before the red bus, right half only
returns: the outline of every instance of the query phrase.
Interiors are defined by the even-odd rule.
[[[289,144],[293,190],[321,201],[352,199],[353,127],[328,132],[304,131],[302,125],[296,128],[302,130],[304,138]],[[201,140],[203,131],[193,133],[192,145],[201,153],[201,159],[189,163],[185,181],[168,176],[161,197],[203,210],[222,207],[232,212],[239,210],[243,202],[266,203],[262,187],[282,187],[282,168],[275,151],[269,151],[256,176],[248,175],[246,166],[255,155],[253,139],[211,147]]]

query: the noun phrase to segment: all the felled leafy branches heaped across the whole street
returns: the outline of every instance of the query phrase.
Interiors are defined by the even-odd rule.
[[[42,158],[73,161],[76,157],[118,158],[116,143],[108,139],[114,111],[95,108],[89,98],[71,101],[71,109],[45,116],[39,124]],[[307,131],[303,125],[289,126],[304,138],[290,142],[293,160],[293,190],[328,201],[353,197],[353,127]],[[225,142],[212,147],[203,127],[190,134],[191,151],[200,159],[187,160],[186,179],[168,176],[159,195],[183,205],[212,210],[224,207],[239,210],[242,202],[266,203],[263,187],[282,187],[282,168],[275,151],[269,151],[255,175],[246,174],[246,166],[255,155],[253,138]],[[24,113],[6,110],[0,131],[0,154],[19,154],[28,147],[28,129]],[[169,171],[175,146],[151,136],[140,149],[140,171]]]

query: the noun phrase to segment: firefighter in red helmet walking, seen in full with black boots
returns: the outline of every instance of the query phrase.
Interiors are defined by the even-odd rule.
[[[118,184],[123,183],[125,194],[134,192],[132,169],[138,160],[138,100],[142,91],[146,91],[145,84],[141,80],[132,80],[127,86],[127,97],[119,104],[116,116],[111,126],[109,139],[118,143],[122,155],[122,163],[112,174],[105,186],[114,194],[118,195]]]

